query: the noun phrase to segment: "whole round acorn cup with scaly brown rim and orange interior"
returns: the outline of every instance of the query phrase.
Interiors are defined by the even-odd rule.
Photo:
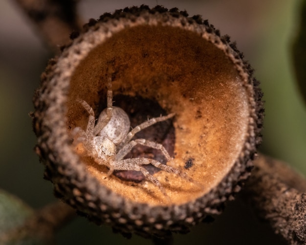
[[[56,196],[125,235],[185,233],[219,214],[249,176],[261,142],[262,92],[236,45],[199,16],[144,5],[90,20],[71,38],[49,61],[34,97],[37,153]],[[170,161],[141,145],[126,156],[180,172],[146,165],[161,187],[139,171],[109,175],[73,142],[74,129],[86,130],[89,120],[77,101],[97,119],[107,107],[108,79],[112,105],[128,114],[132,128],[175,113],[135,135],[162,145]]]

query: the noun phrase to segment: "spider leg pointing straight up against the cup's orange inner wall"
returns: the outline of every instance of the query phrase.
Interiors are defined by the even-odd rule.
[[[108,73],[108,80],[107,80],[107,109],[106,109],[106,118],[103,120],[98,120],[98,123],[94,127],[93,130],[93,135],[97,135],[104,127],[106,124],[109,123],[109,120],[111,118],[111,112],[112,112],[112,87],[111,87],[111,68],[110,66],[107,69]]]

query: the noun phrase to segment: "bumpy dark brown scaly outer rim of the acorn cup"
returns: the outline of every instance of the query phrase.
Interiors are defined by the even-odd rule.
[[[76,67],[82,57],[123,28],[157,24],[200,33],[204,39],[223,50],[239,71],[243,86],[251,94],[249,105],[252,110],[247,142],[232,170],[216,188],[193,202],[152,207],[124,199],[86,172],[78,156],[71,153],[65,115],[72,67]],[[101,28],[104,35],[99,32]],[[202,21],[199,16],[188,18],[186,12],[179,12],[176,8],[169,11],[160,6],[153,9],[147,6],[125,8],[112,15],[104,14],[98,21],[89,21],[84,29],[80,36],[78,33],[71,34],[74,40],[63,48],[60,58],[50,60],[42,75],[42,85],[34,97],[33,127],[38,136],[37,153],[45,165],[45,178],[54,184],[55,194],[89,220],[97,224],[110,224],[123,234],[165,236],[172,231],[184,233],[207,215],[219,214],[224,201],[232,198],[232,194],[240,190],[243,180],[249,176],[256,147],[261,142],[262,92],[259,82],[252,77],[252,68],[243,60],[242,53],[236,49],[235,44],[230,43],[228,36],[221,37],[219,31],[207,21]],[[82,47],[84,42],[87,42],[86,47]],[[66,62],[67,57],[69,63]],[[65,72],[59,71],[59,63],[66,66]]]

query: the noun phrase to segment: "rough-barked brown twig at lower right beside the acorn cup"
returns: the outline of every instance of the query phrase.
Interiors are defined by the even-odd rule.
[[[260,155],[247,192],[276,233],[289,244],[306,243],[306,180],[281,161]]]

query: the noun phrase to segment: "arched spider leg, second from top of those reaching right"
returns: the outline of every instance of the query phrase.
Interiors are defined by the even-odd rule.
[[[115,158],[116,161],[122,160],[126,156],[126,154],[128,154],[131,151],[131,149],[137,144],[146,146],[146,147],[151,147],[153,149],[161,150],[163,155],[166,157],[167,161],[171,161],[171,157],[168,151],[165,149],[165,147],[163,147],[163,145],[155,143],[153,141],[148,141],[145,139],[136,139],[136,140],[130,141],[127,145],[125,145],[123,148],[121,148],[118,151],[118,153],[116,154],[116,158]]]

